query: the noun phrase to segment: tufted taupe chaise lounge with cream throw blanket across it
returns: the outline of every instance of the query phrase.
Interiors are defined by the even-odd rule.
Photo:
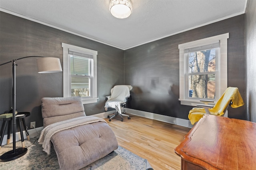
[[[56,151],[60,170],[78,170],[118,148],[104,119],[86,116],[80,97],[42,98],[44,129],[39,143]]]

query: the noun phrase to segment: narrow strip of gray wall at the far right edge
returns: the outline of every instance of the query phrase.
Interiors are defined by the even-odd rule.
[[[246,31],[246,112],[256,122],[256,0],[248,0],[245,13]]]

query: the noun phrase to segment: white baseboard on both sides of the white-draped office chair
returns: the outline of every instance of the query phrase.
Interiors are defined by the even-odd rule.
[[[146,111],[140,111],[140,110],[129,109],[129,108],[124,108],[124,111],[127,112],[127,113],[130,113],[132,115],[146,117],[146,118],[149,118],[149,119],[163,121],[163,122],[166,122],[166,123],[172,123],[172,124],[175,124],[175,125],[180,125],[180,126],[189,127],[189,128],[193,127],[193,125],[190,123],[190,121],[186,120],[186,119],[180,119],[180,118],[177,118],[177,117],[171,117],[171,116],[166,116],[166,115],[159,115],[159,114],[156,114],[156,113],[150,113],[150,112],[146,112]],[[113,111],[98,113],[98,114],[93,115],[93,116],[100,117],[100,118],[104,119],[108,116],[108,114],[111,114],[111,113],[113,113]]]

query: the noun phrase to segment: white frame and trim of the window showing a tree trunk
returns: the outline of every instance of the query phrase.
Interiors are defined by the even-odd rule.
[[[200,99],[188,98],[188,93],[186,93],[189,89],[188,86],[186,86],[188,85],[188,83],[186,83],[186,80],[188,79],[186,69],[188,68],[188,66],[184,54],[185,49],[200,47],[217,42],[220,43],[220,50],[218,53],[219,55],[217,56],[218,58],[216,58],[218,60],[218,65],[216,66],[216,68],[218,68],[218,71],[216,73],[216,78],[218,78],[218,84],[216,84],[215,92],[216,101],[224,93],[228,86],[228,38],[229,33],[225,33],[178,45],[178,48],[180,50],[180,104],[188,106],[196,106],[196,104],[202,104],[199,101]]]

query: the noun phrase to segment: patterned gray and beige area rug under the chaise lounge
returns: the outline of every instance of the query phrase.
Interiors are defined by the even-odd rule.
[[[47,155],[42,150],[42,145],[36,143],[35,139],[25,141],[28,152],[9,162],[0,162],[0,170],[58,170],[58,158],[51,147],[51,154]],[[16,142],[16,148],[21,147],[21,142]],[[12,150],[12,143],[4,145],[0,154]],[[104,158],[93,162],[81,170],[153,170],[146,159],[118,146],[118,149]]]

